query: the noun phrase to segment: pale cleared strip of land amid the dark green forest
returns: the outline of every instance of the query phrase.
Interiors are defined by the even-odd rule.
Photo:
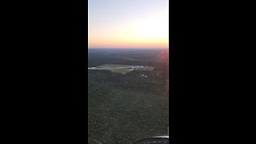
[[[88,67],[88,70],[110,70],[114,73],[127,74],[133,70],[154,70],[154,66],[105,64],[105,65],[96,66],[96,67]]]

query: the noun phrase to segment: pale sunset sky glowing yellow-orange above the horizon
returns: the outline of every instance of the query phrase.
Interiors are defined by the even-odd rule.
[[[169,48],[168,0],[89,0],[89,48]]]

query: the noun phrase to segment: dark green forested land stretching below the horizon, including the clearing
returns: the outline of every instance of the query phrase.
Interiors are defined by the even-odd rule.
[[[168,134],[168,49],[88,50],[88,143]]]

